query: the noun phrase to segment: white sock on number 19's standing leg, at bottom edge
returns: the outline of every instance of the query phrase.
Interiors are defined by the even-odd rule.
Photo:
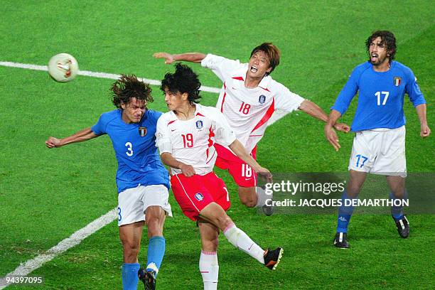
[[[203,276],[204,290],[218,289],[219,264],[216,252],[201,251],[200,273]]]

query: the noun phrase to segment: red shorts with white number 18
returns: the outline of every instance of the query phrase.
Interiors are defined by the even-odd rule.
[[[216,159],[215,163],[216,166],[220,169],[227,169],[237,186],[257,186],[257,173],[252,170],[251,166],[232,154],[232,152],[224,146],[219,144],[215,144],[214,146],[216,152],[218,152],[218,159]],[[251,156],[253,159],[257,159],[257,146],[252,149]]]

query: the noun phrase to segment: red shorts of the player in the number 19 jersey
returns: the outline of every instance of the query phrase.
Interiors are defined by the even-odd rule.
[[[183,174],[171,176],[173,196],[190,220],[198,220],[198,215],[210,203],[218,203],[225,211],[230,208],[230,195],[222,179],[214,172],[203,176]]]

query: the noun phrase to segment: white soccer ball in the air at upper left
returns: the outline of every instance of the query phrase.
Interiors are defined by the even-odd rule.
[[[59,53],[48,62],[48,73],[56,82],[70,82],[77,76],[77,60],[68,53]]]

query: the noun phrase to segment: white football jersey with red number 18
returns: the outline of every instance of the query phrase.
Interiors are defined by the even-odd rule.
[[[201,65],[210,68],[223,82],[216,108],[228,119],[237,139],[252,151],[262,139],[270,117],[276,109],[287,112],[299,108],[304,98],[290,92],[270,76],[258,87],[245,87],[247,63],[208,54]]]

